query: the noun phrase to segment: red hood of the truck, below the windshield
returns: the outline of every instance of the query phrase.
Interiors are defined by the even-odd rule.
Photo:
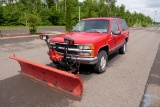
[[[93,44],[102,39],[105,39],[108,34],[98,32],[70,32],[59,35],[50,39],[52,42],[64,42],[65,37],[70,37],[75,44]]]

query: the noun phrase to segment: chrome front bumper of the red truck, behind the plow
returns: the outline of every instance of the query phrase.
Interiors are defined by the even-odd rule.
[[[80,61],[81,64],[89,64],[89,65],[96,64],[97,61],[98,61],[97,57],[94,57],[94,58],[75,58],[75,57],[71,57],[71,59]]]

